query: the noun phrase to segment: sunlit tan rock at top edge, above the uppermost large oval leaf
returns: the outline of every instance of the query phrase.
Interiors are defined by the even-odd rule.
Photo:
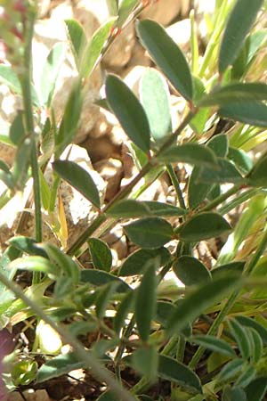
[[[142,12],[142,20],[150,18],[159,24],[167,26],[178,15],[184,16],[190,10],[190,0],[159,0],[157,3],[150,4]]]

